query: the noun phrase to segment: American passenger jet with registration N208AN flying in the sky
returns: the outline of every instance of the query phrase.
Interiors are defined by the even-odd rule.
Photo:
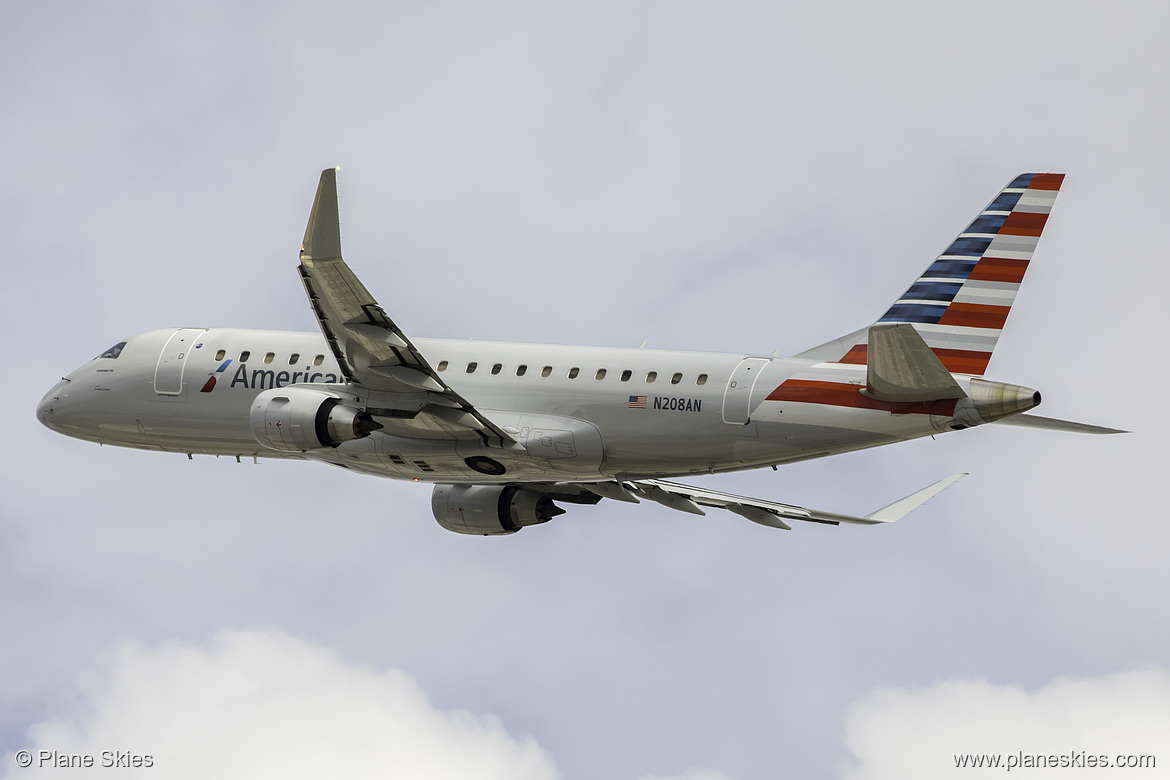
[[[865,517],[670,479],[985,423],[1126,433],[1026,414],[1039,392],[984,378],[1064,174],[1012,179],[876,322],[790,358],[412,339],[342,258],[336,175],[298,267],[319,333],[140,333],[62,378],[37,419],[99,444],[433,483],[439,524],[482,536],[604,498],[783,530],[885,524],[963,475]]]

